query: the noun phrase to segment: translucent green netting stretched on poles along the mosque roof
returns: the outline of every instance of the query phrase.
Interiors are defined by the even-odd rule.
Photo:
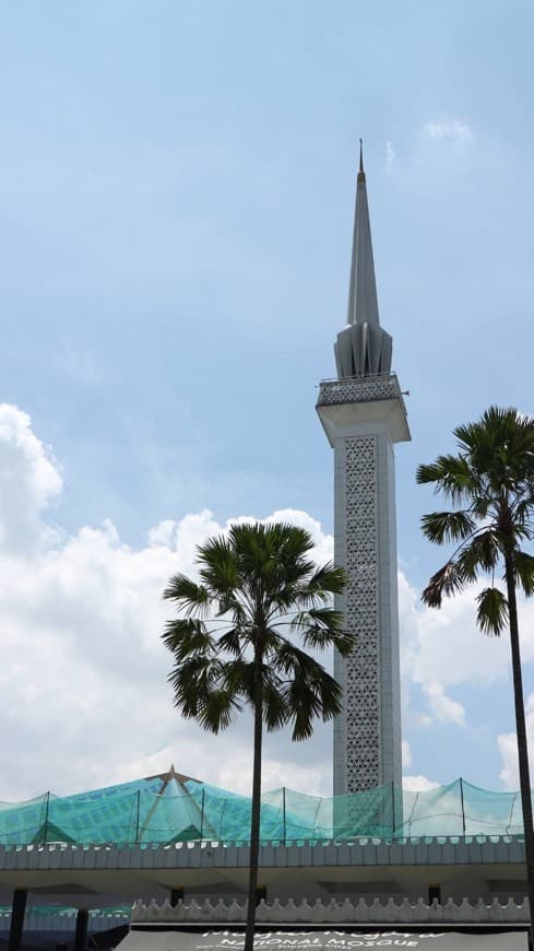
[[[248,797],[177,778],[0,803],[0,845],[239,843],[248,841],[249,830]],[[388,785],[333,798],[292,789],[262,797],[263,842],[473,835],[522,836],[519,794],[491,792],[456,779],[423,792]]]

